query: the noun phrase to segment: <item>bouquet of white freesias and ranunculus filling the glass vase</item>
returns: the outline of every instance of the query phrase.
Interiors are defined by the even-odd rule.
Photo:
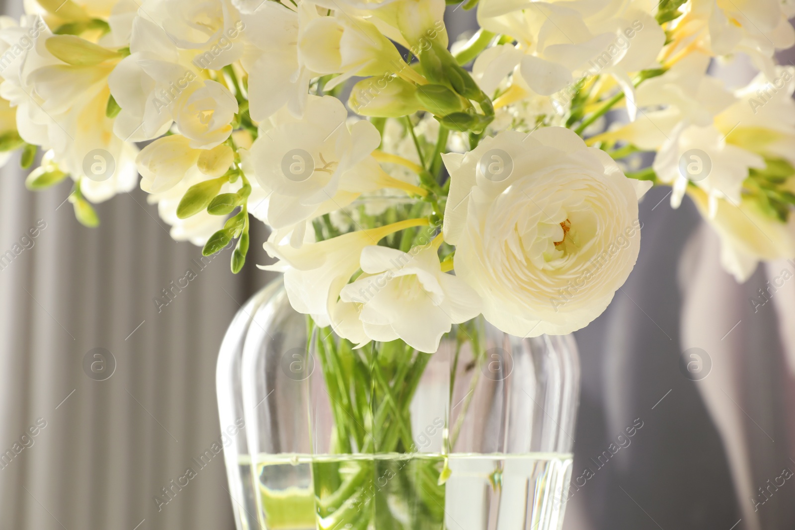
[[[235,273],[266,223],[266,269],[340,338],[328,377],[343,343],[411,359],[478,315],[519,337],[586,326],[653,185],[692,198],[738,280],[795,257],[790,0],[465,0],[480,28],[458,41],[445,0],[25,7],[0,21],[0,149],[44,150],[29,188],[71,178],[96,226],[91,203],[140,174],[173,238],[234,246]],[[728,90],[709,66],[737,54],[759,74]]]

